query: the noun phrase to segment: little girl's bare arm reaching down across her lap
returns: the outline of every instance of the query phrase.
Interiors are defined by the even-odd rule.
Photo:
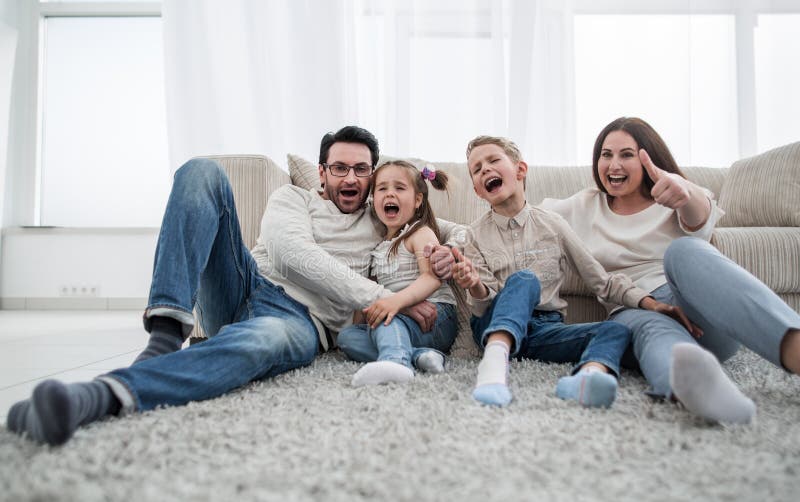
[[[381,298],[364,309],[367,324],[377,327],[383,319],[389,324],[399,311],[426,300],[434,293],[442,281],[431,271],[430,261],[423,255],[423,248],[430,242],[438,242],[436,234],[428,227],[422,227],[405,241],[406,248],[417,257],[419,277],[411,284],[387,298]]]

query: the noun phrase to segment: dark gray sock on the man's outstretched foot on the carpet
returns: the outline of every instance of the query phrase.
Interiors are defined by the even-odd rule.
[[[45,380],[33,389],[30,399],[8,411],[6,426],[40,443],[63,444],[81,425],[119,413],[120,402],[108,385],[99,380],[63,384]]]

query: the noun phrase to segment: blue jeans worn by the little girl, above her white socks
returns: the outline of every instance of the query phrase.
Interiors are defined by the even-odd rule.
[[[413,369],[419,356],[427,351],[434,350],[444,356],[457,333],[455,306],[437,303],[436,323],[427,333],[411,317],[398,314],[388,326],[381,324],[375,329],[366,324],[348,326],[339,333],[336,343],[354,361],[392,361]]]

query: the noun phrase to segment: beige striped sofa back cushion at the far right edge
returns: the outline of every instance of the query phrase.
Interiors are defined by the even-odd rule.
[[[719,205],[720,226],[800,226],[800,142],[734,162]]]

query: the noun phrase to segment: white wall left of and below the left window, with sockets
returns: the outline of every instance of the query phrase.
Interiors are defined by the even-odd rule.
[[[34,4],[0,0],[0,308],[143,308],[158,229],[21,228],[34,223]]]

